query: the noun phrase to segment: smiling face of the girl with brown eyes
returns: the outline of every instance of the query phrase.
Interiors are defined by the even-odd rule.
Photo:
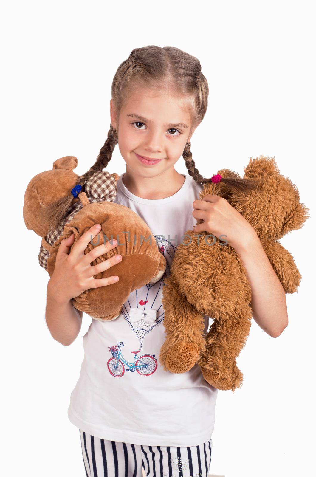
[[[111,124],[117,129],[126,171],[153,177],[174,166],[190,140],[191,117],[183,100],[142,89],[130,95],[118,121],[112,99],[110,107]],[[146,163],[139,156],[159,161]]]

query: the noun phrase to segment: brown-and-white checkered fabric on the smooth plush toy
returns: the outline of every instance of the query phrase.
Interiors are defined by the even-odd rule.
[[[84,192],[90,203],[104,202],[105,200],[112,202],[116,197],[116,178],[107,171],[97,171],[91,177],[89,177],[85,183]],[[83,204],[81,200],[69,207],[61,224],[57,228],[48,232],[45,239],[50,245],[53,245],[60,235],[62,235],[64,226],[74,218],[76,213],[79,212],[82,207]],[[38,259],[41,267],[43,267],[46,271],[48,257],[48,250],[41,245]]]

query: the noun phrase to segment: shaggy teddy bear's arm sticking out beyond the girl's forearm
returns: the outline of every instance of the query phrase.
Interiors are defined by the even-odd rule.
[[[285,293],[297,291],[302,276],[290,252],[284,249],[283,245],[278,241],[269,241],[263,244],[263,249],[278,279],[282,283]]]

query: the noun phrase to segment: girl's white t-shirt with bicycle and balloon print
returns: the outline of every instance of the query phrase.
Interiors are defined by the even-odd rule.
[[[123,175],[117,181],[114,202],[129,207],[147,223],[158,247],[163,247],[167,269],[157,283],[132,292],[118,318],[92,319],[83,337],[84,360],[70,396],[68,417],[88,434],[107,440],[197,446],[211,439],[218,389],[205,381],[197,364],[186,373],[170,373],[163,370],[158,356],[165,341],[163,279],[169,276],[177,244],[196,223],[192,202],[200,198],[203,186],[185,175],[178,192],[150,200],[131,194]],[[206,334],[209,317],[204,318]]]

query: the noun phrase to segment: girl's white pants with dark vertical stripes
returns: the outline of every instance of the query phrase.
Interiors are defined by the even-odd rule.
[[[207,477],[209,473],[211,439],[192,447],[143,446],[99,439],[81,429],[80,438],[86,477]]]

